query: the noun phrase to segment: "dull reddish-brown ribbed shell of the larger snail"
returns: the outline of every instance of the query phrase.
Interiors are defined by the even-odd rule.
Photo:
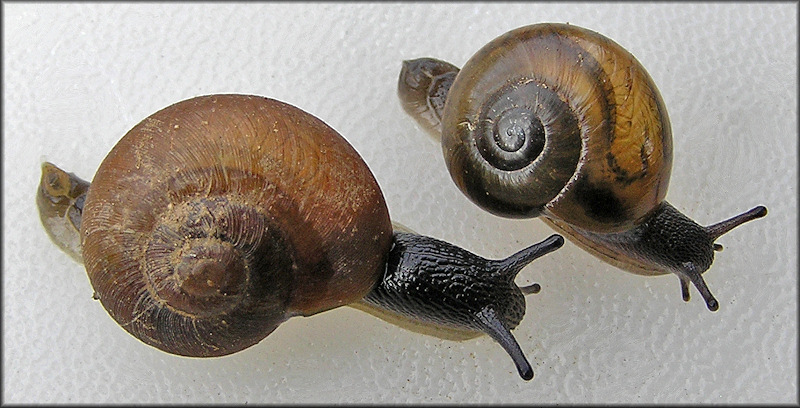
[[[230,354],[289,317],[361,299],[392,237],[346,140],[247,95],[185,100],[131,129],[92,181],[80,232],[108,313],[186,356]]]

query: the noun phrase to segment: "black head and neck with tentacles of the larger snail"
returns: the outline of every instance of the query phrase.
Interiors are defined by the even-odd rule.
[[[517,274],[534,259],[564,244],[552,235],[502,260],[489,260],[444,241],[395,232],[386,273],[364,299],[425,324],[486,333],[511,356],[520,377],[533,369],[511,330],[525,315],[524,295],[539,285],[518,287]]]

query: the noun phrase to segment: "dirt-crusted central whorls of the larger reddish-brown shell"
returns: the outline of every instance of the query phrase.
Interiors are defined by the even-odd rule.
[[[268,291],[286,301],[291,281],[276,271],[291,268],[294,260],[288,256],[291,244],[276,227],[267,214],[223,196],[172,206],[144,252],[154,300],[192,317],[230,313]],[[270,274],[251,275],[253,270]],[[248,289],[260,296],[248,296]]]

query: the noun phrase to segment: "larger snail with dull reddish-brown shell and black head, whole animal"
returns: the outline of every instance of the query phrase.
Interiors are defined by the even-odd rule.
[[[238,94],[147,117],[91,184],[44,163],[37,204],[117,323],[191,357],[231,354],[293,316],[351,305],[486,333],[529,380],[511,330],[539,286],[514,278],[564,242],[554,234],[489,260],[403,231],[335,130],[292,105]]]

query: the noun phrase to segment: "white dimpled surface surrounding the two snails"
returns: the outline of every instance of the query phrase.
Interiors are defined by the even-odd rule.
[[[515,330],[524,382],[487,337],[453,342],[351,308],[297,318],[243,352],[187,359],[116,326],[34,204],[39,165],[91,179],[133,125],[236,92],[325,120],[363,155],[393,220],[487,257],[548,236],[450,181],[395,95],[403,59],[462,65],[536,22],[613,38],[659,85],[674,130],[667,198],[701,224],[758,204],[719,242],[706,310],[678,279],[613,269],[566,244]],[[795,4],[3,4],[3,402],[797,403]]]

